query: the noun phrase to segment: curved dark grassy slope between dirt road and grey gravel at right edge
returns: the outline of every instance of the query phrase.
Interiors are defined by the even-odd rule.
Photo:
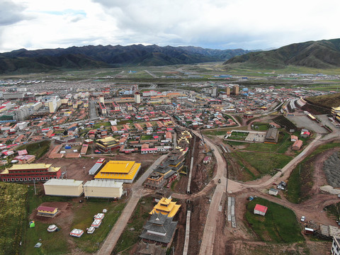
[[[293,169],[288,179],[287,192],[285,198],[291,203],[302,203],[310,198],[310,190],[313,186],[314,157],[317,154],[325,152],[327,149],[340,147],[339,142],[331,142],[326,145],[320,145],[317,149],[306,157],[295,169]]]

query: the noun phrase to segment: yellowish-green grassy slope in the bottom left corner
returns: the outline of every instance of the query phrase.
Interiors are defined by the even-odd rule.
[[[25,185],[0,183],[0,254],[20,254],[27,193]]]

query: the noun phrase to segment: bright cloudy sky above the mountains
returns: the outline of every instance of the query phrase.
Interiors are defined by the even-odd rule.
[[[340,38],[336,0],[0,0],[0,52],[82,45],[264,50]]]

